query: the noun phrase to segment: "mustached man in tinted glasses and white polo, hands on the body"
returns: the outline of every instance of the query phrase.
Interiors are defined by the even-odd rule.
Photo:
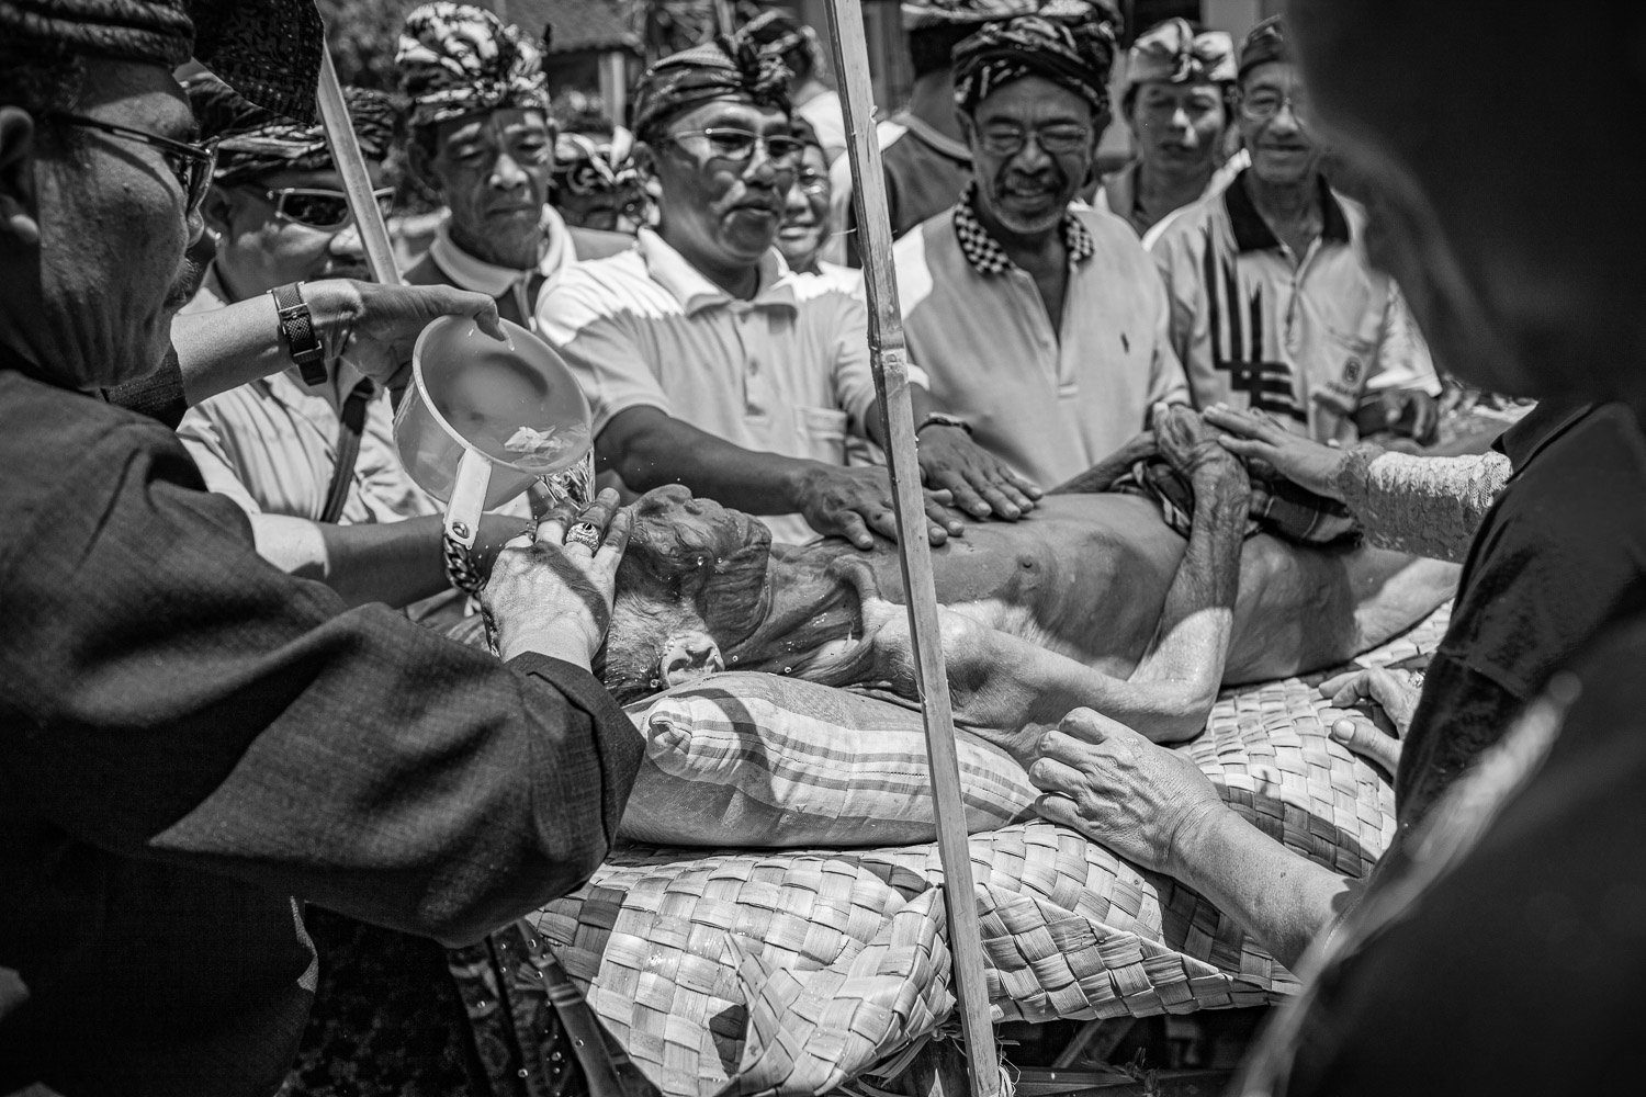
[[[884,469],[843,465],[848,436],[882,442],[866,312],[795,275],[772,247],[802,160],[785,69],[746,39],[673,54],[635,95],[635,156],[660,189],[657,232],[578,263],[538,308],[543,332],[594,408],[594,451],[632,492],[685,484],[800,543],[895,536]],[[1034,490],[968,433],[927,414],[915,377],[920,469],[983,518],[1016,518]],[[928,497],[933,543],[960,535]]]

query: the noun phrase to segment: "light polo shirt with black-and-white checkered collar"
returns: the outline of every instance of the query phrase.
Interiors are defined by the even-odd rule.
[[[1119,449],[1157,400],[1188,398],[1167,337],[1165,291],[1131,225],[1070,209],[1063,242],[1060,329],[969,196],[894,245],[904,337],[932,377],[932,398],[1044,488]]]

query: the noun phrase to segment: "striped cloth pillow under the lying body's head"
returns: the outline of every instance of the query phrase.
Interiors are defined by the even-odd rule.
[[[777,674],[728,673],[630,709],[645,761],[617,832],[670,845],[930,842],[920,712]],[[1011,755],[958,734],[966,829],[1027,819],[1039,794]]]

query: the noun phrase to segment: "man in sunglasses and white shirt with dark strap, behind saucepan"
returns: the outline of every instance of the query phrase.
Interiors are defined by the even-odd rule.
[[[334,286],[321,280],[369,273],[324,130],[252,107],[216,77],[189,81],[188,94],[194,117],[221,138],[201,204],[217,255],[179,314],[263,294],[326,311],[319,298]],[[380,173],[393,104],[357,89],[347,102],[360,150]],[[390,196],[379,191],[385,204]],[[407,605],[441,595],[449,587],[439,505],[400,465],[388,393],[347,359],[324,357],[318,340],[309,354],[300,339],[286,342],[298,360],[285,370],[183,416],[178,436],[206,487],[247,511],[265,559],[323,579],[351,602]],[[377,528],[342,531],[339,523]],[[520,516],[489,516],[482,543],[497,549],[518,528]],[[415,615],[435,609],[420,605]]]

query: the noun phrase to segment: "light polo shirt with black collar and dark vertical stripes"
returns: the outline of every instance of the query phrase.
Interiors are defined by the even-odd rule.
[[[1244,173],[1179,211],[1151,250],[1195,406],[1261,408],[1315,441],[1351,442],[1366,391],[1439,395],[1440,378],[1394,280],[1366,263],[1365,211],[1325,183],[1320,197],[1322,234],[1300,258]]]

